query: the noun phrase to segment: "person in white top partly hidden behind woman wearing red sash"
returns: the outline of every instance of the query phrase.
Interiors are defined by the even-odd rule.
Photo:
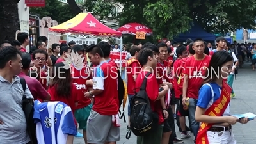
[[[236,67],[239,65],[239,61],[236,57],[236,54],[234,52],[230,51],[230,44],[229,43],[224,46],[224,50],[228,51],[230,53],[230,55],[232,55],[232,58],[233,58],[233,61],[234,61],[232,70],[230,72],[230,75],[228,76],[228,85],[232,88],[231,97],[234,98],[235,93],[234,93],[234,90],[233,90],[233,82],[234,82],[234,77],[235,77],[235,70],[236,70]]]

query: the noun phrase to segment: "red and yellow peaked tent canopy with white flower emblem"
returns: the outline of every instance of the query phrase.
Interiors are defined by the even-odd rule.
[[[67,22],[49,28],[49,31],[56,33],[83,33],[96,36],[122,36],[120,31],[108,28],[108,26],[93,17],[91,13],[79,13]]]

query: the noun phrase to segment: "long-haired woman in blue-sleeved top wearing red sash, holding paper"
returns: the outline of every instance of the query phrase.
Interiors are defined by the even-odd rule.
[[[225,88],[228,86],[223,79],[231,72],[233,62],[227,51],[217,51],[212,55],[196,106],[195,118],[201,122],[197,144],[236,144],[231,125],[248,122],[248,118],[238,119],[230,115],[230,97],[221,94],[223,85],[225,84]]]

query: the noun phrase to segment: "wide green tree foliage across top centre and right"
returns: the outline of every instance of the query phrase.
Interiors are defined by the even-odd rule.
[[[74,0],[69,0],[74,1]],[[120,26],[138,22],[151,28],[155,38],[173,38],[197,22],[207,32],[227,33],[234,29],[254,29],[256,0],[88,0],[87,12],[106,19],[111,4],[124,6],[118,17]]]

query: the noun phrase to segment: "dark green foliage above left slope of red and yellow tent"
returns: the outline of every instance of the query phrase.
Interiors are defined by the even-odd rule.
[[[68,4],[60,3],[58,0],[47,0],[44,8],[29,8],[29,12],[39,14],[40,19],[51,17],[52,20],[56,20],[59,24],[72,19],[77,14]]]

